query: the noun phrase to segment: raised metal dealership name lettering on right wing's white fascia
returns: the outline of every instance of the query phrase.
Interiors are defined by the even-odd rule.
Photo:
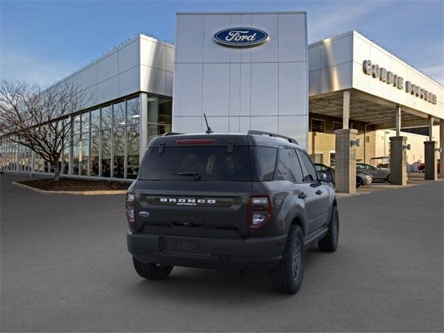
[[[379,78],[382,82],[388,85],[393,85],[398,89],[404,89],[404,78],[393,74],[391,71],[387,71],[384,67],[379,65],[372,65],[370,60],[364,60],[363,63],[364,73],[373,76],[373,78]],[[427,102],[436,104],[436,95],[427,90],[422,89],[419,85],[413,85],[410,81],[405,82],[405,92],[412,94],[413,96],[424,99]]]

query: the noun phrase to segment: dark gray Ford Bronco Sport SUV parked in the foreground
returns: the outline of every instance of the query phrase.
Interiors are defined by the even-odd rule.
[[[296,293],[305,250],[338,246],[332,180],[294,139],[273,133],[157,137],[126,196],[135,270],[151,280],[173,266],[263,271]]]

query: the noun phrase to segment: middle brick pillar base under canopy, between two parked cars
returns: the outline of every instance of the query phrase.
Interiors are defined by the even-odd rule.
[[[407,185],[407,137],[390,137],[391,185]]]

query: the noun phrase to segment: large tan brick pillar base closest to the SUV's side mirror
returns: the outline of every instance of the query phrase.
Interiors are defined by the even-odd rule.
[[[334,182],[336,191],[341,193],[356,192],[356,146],[351,141],[356,140],[358,130],[344,128],[335,130],[336,136],[336,171]]]

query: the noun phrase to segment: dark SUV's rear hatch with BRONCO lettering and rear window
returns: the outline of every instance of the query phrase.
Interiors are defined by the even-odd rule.
[[[251,187],[245,136],[159,137],[146,151],[135,184],[136,229],[189,237],[246,237]]]

